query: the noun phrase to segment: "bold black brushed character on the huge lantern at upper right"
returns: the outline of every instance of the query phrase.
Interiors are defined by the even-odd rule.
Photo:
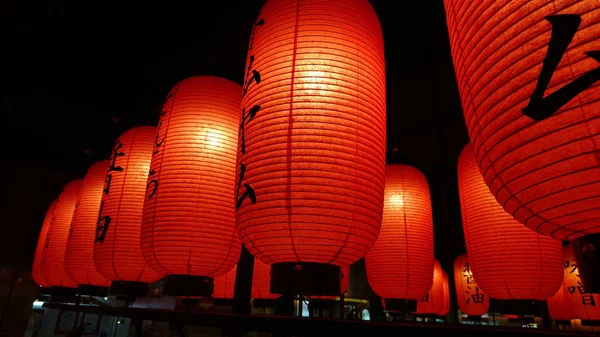
[[[525,116],[536,121],[550,117],[579,93],[600,80],[600,67],[598,67],[544,97],[560,60],[579,29],[581,17],[576,14],[561,14],[548,16],[546,20],[552,26],[548,50],[529,104],[522,109]],[[600,62],[600,50],[586,51],[585,54]]]

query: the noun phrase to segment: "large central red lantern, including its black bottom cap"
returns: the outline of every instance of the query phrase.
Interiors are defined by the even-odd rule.
[[[267,1],[241,112],[242,242],[273,265],[275,292],[336,295],[339,267],[363,257],[381,226],[385,61],[369,1]]]

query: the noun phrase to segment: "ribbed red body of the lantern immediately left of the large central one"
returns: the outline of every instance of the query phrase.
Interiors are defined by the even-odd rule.
[[[161,275],[214,277],[237,263],[235,165],[242,88],[198,76],[163,106],[144,201],[141,244]]]

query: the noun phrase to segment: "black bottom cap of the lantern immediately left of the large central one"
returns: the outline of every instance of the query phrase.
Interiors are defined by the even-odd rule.
[[[167,296],[211,296],[214,290],[213,278],[196,275],[171,274],[165,277],[162,293]]]

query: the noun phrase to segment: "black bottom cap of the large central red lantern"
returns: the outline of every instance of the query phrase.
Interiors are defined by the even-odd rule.
[[[341,268],[316,262],[274,263],[271,266],[271,293],[339,296]]]

